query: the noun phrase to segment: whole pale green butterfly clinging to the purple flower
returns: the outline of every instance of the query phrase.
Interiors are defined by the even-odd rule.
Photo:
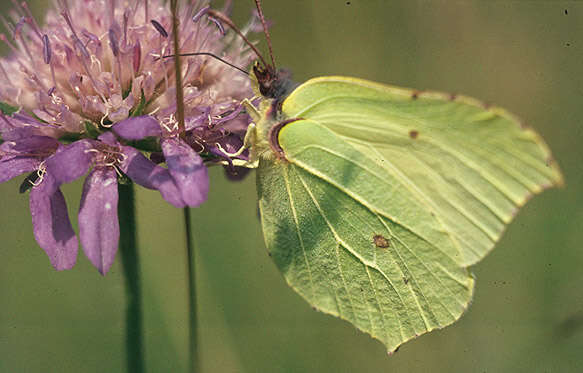
[[[389,352],[458,320],[467,267],[563,183],[536,132],[475,99],[340,76],[291,91],[264,61],[253,75],[264,99],[245,142],[270,255],[308,303]]]

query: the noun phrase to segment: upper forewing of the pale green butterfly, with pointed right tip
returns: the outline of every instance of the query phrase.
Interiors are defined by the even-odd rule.
[[[492,249],[529,197],[562,184],[533,130],[471,98],[327,77],[300,86],[283,111],[325,126],[382,169],[387,216],[419,231],[417,215],[433,215],[464,266]]]

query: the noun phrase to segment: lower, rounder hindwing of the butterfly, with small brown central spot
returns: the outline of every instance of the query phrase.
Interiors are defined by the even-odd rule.
[[[347,154],[330,155],[354,151],[351,146],[311,121],[291,123],[279,137],[288,158],[260,160],[258,188],[267,248],[290,286],[389,351],[457,320],[470,302],[473,279],[438,246],[359,197],[355,176],[370,175]],[[324,176],[329,170],[339,170],[345,183]],[[368,184],[385,187],[380,180]]]

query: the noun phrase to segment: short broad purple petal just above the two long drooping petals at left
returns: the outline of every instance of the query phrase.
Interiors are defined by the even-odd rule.
[[[89,140],[79,140],[60,148],[47,158],[47,172],[55,178],[57,185],[70,183],[85,175],[91,166],[93,148]]]

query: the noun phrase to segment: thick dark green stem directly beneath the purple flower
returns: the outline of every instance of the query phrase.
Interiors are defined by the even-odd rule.
[[[129,373],[145,372],[142,290],[138,257],[136,214],[133,184],[118,186],[118,216],[120,221],[119,250],[126,282],[126,356]]]

